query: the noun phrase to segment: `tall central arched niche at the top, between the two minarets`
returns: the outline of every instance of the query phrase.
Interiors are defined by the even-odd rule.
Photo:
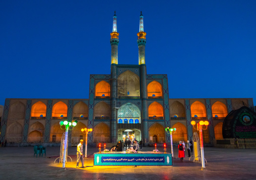
[[[140,96],[140,77],[125,71],[117,79],[117,96]]]

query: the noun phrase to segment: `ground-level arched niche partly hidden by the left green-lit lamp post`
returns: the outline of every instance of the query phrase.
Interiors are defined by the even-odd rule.
[[[51,126],[51,130],[50,130],[50,142],[60,142],[62,134],[64,132],[65,132],[65,125],[62,125],[60,127],[59,122],[54,123]]]

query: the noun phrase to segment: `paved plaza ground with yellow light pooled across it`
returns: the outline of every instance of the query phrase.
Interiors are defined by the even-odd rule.
[[[173,159],[173,166],[93,166],[93,158],[85,158],[85,168],[76,168],[76,147],[69,147],[67,169],[53,164],[60,147],[46,147],[45,157],[33,157],[33,147],[0,147],[0,179],[256,179],[255,149],[205,147],[206,170],[201,163]],[[84,148],[85,149],[85,148]],[[152,151],[154,147],[143,147]],[[158,148],[163,152],[163,148]],[[168,152],[170,147],[167,148]],[[98,148],[88,147],[88,156]],[[174,147],[174,157],[178,149]],[[187,155],[187,153],[186,153]],[[81,162],[80,162],[81,166]]]

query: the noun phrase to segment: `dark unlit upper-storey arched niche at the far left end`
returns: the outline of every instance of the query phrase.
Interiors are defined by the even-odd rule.
[[[13,103],[10,106],[9,119],[24,119],[26,106],[20,101]]]

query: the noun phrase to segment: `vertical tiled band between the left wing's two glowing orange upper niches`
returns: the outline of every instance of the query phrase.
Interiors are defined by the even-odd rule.
[[[49,142],[50,140],[50,128],[51,128],[51,109],[52,109],[52,100],[47,101],[46,107],[46,120],[45,120],[45,129],[44,129],[44,142]]]

